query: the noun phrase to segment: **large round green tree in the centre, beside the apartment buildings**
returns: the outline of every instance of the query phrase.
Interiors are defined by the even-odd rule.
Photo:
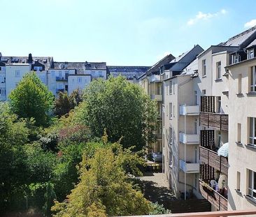
[[[125,77],[91,82],[76,112],[77,121],[89,126],[92,135],[101,137],[106,128],[108,140],[115,142],[122,137],[124,148],[135,146],[141,150],[154,139],[156,103]]]

